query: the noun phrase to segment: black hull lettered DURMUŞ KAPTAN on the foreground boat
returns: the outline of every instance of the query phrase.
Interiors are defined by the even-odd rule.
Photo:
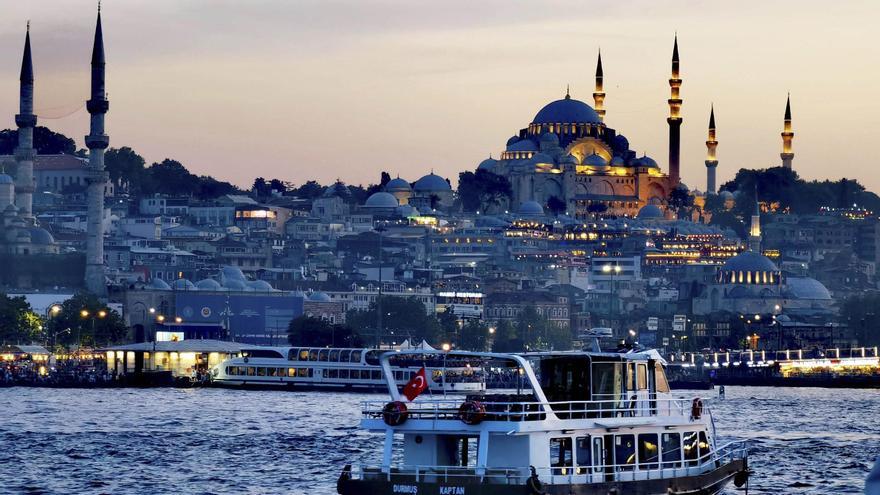
[[[341,495],[715,495],[734,477],[748,477],[743,459],[733,460],[714,471],[680,478],[589,483],[570,485],[534,483],[522,485],[488,484],[478,480],[461,482],[416,482],[414,477],[388,480],[349,479],[346,473],[337,483]]]

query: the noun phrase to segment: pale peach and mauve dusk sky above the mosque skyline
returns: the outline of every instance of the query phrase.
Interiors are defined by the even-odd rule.
[[[31,20],[40,124],[83,147],[96,2],[6,2],[0,118],[14,127]],[[601,46],[606,123],[667,169],[673,33],[684,80],[682,178],[705,188],[709,105],[718,176],[780,164],[791,91],[794,169],[880,191],[880,3],[106,0],[113,147],[240,186],[455,183],[565,94],[592,105]]]

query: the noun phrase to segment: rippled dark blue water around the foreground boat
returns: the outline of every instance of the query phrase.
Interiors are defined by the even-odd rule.
[[[380,455],[357,427],[377,397],[0,389],[0,493],[332,494]],[[860,493],[880,456],[880,391],[728,387],[713,407],[721,440],[754,441],[753,494]]]

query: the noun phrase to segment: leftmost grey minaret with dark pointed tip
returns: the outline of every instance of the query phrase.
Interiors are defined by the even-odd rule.
[[[24,55],[21,58],[21,89],[19,92],[19,113],[15,116],[18,126],[18,147],[15,148],[17,171],[15,174],[15,206],[19,214],[33,222],[34,198],[34,64],[31,60],[31,24],[28,22],[24,36]]]

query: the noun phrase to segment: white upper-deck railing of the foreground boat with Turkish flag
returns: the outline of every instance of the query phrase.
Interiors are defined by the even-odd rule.
[[[685,417],[693,420],[710,414],[703,405],[700,414],[694,414],[693,401],[680,398],[645,397],[592,401],[539,402],[536,400],[493,400],[491,396],[425,399],[404,404],[408,419],[458,420],[464,402],[479,402],[483,421],[542,421],[548,413],[558,419]],[[364,401],[364,418],[383,418],[387,401]],[[473,411],[474,409],[469,409]],[[695,417],[696,416],[696,417]]]

